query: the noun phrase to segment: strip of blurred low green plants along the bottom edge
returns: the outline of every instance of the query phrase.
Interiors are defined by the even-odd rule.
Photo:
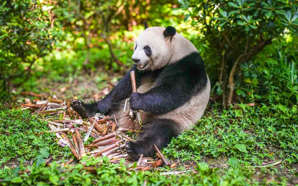
[[[89,162],[92,165],[92,162]],[[198,174],[182,176],[160,176],[157,172],[129,172],[121,163],[111,164],[103,158],[103,163],[95,172],[83,169],[83,165],[60,166],[56,162],[49,167],[15,168],[10,171],[0,170],[1,185],[286,185],[284,176],[266,178],[256,177],[252,172],[229,169],[220,173],[209,168],[206,163],[198,163]]]

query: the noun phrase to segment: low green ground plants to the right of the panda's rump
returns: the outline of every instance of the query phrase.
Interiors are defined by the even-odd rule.
[[[182,161],[200,160],[201,156],[232,157],[230,167],[245,169],[282,160],[280,168],[291,169],[298,162],[296,105],[287,109],[287,120],[283,108],[239,106],[222,113],[216,107],[206,112],[193,130],[174,138],[164,152]]]

